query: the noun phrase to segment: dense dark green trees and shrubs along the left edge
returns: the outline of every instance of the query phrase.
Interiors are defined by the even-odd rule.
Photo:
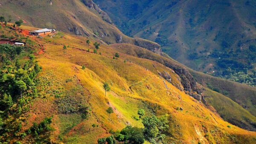
[[[38,96],[36,77],[42,68],[35,63],[35,56],[26,55],[24,49],[15,45],[0,45],[0,111],[3,111],[0,113],[0,137],[3,142],[9,141],[8,138],[12,136],[21,139],[26,137],[26,133],[18,134],[22,127],[20,115],[29,110],[30,101]],[[29,60],[24,59],[27,56]],[[13,60],[15,63],[12,63]],[[20,61],[25,61],[23,69]]]

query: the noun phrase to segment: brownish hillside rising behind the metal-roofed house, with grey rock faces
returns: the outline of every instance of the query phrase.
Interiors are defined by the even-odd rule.
[[[163,55],[157,43],[122,34],[92,0],[2,0],[0,3],[0,15],[13,23],[22,19],[28,26],[57,29],[107,44],[132,43]]]

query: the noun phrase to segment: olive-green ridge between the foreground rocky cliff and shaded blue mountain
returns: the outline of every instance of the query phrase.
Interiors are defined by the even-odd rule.
[[[201,72],[196,72],[171,58],[163,58],[154,54],[153,52],[146,51],[145,49],[137,46],[129,44],[113,44],[110,45],[110,47],[113,47],[128,55],[146,58],[157,61],[158,63],[162,63],[164,66],[174,69],[174,71],[180,75],[180,78],[183,78],[183,75],[186,75],[186,69],[188,69],[189,72],[194,75],[194,77],[190,79],[189,82],[193,81],[195,78],[195,80],[203,86],[223,93],[223,95],[221,95],[220,93],[214,92],[207,88],[201,88],[198,92],[201,95],[193,95],[193,93],[189,93],[189,95],[193,96],[198,101],[203,101],[206,105],[207,103],[211,104],[217,110],[218,114],[221,115],[221,117],[226,121],[239,125],[240,127],[248,130],[255,130],[255,88],[232,81],[215,78]],[[183,72],[180,73],[180,71]],[[186,80],[186,78],[181,79],[181,84],[183,84],[182,82],[187,83],[186,81],[182,80]],[[197,87],[198,86],[195,86],[194,88],[198,89]],[[211,107],[209,108],[211,109]]]

